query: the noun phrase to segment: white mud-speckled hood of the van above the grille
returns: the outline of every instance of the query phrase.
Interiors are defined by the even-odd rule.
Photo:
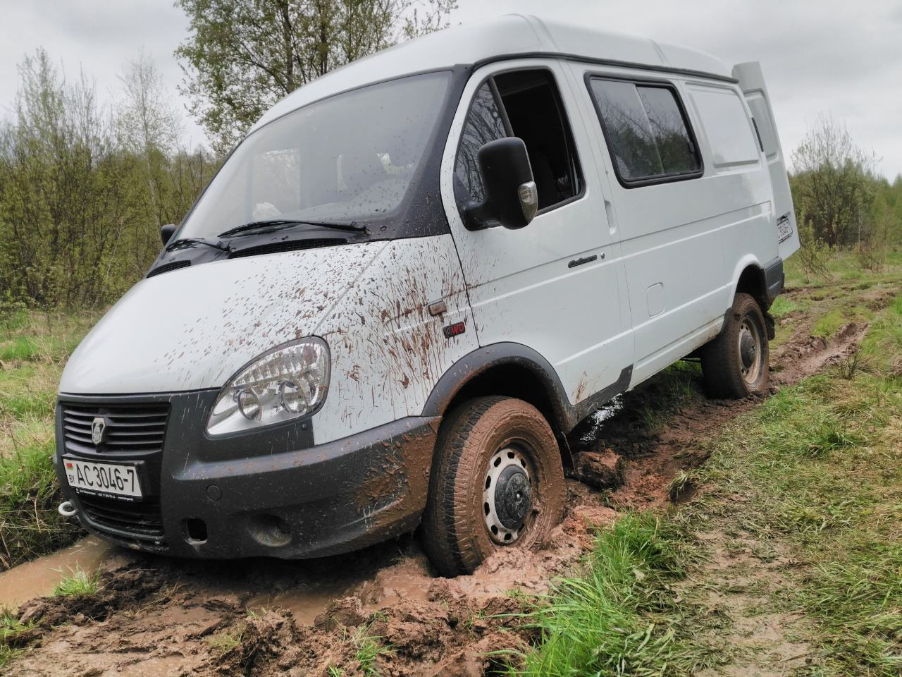
[[[286,341],[316,334],[387,242],[248,256],[155,275],[69,357],[60,393],[219,388]]]

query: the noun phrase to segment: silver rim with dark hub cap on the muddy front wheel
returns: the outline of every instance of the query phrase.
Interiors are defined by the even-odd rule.
[[[492,541],[514,543],[532,509],[532,483],[526,457],[506,447],[489,459],[483,489],[483,517]]]

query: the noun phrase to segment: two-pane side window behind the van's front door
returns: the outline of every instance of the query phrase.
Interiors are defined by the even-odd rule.
[[[590,90],[623,185],[701,175],[695,138],[674,88],[591,78]]]

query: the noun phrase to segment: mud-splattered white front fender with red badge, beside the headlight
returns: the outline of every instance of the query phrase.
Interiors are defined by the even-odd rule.
[[[463,332],[446,335],[458,323]],[[316,444],[419,416],[438,379],[477,348],[451,236],[392,241],[317,333],[328,343],[332,375],[313,421]]]

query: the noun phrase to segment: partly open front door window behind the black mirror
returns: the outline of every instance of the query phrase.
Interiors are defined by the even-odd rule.
[[[526,144],[539,210],[581,192],[573,135],[554,78],[544,69],[515,70],[490,77],[474,96],[455,164],[460,207],[484,198],[479,149],[503,136],[518,136]]]

